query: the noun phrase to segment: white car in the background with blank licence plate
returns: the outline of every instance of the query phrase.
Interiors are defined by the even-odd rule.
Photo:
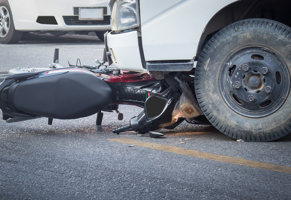
[[[107,0],[0,0],[0,43],[17,43],[23,31],[47,31],[65,35],[69,31],[110,29]]]

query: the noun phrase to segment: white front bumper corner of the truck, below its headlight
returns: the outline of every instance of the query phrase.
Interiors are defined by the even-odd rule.
[[[124,71],[143,72],[137,31],[120,34],[107,34],[107,46],[113,64]]]

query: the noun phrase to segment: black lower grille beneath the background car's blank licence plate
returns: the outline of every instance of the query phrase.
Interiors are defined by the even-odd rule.
[[[79,16],[63,16],[66,25],[81,25],[81,26],[93,26],[93,25],[110,25],[110,15],[104,15],[103,20],[79,20]]]

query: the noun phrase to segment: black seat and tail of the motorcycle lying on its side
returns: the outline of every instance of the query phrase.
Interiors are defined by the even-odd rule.
[[[0,106],[4,114],[12,117],[22,117],[17,113],[24,113],[56,119],[76,119],[93,115],[112,101],[111,88],[93,73],[63,70],[36,74],[28,78],[21,77],[23,74],[20,78],[8,76],[1,83],[2,86],[10,80],[0,91]],[[14,111],[17,111],[15,115]]]

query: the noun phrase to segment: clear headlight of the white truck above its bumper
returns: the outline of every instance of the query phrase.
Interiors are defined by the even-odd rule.
[[[138,0],[117,0],[111,13],[111,30],[121,31],[139,26]]]

